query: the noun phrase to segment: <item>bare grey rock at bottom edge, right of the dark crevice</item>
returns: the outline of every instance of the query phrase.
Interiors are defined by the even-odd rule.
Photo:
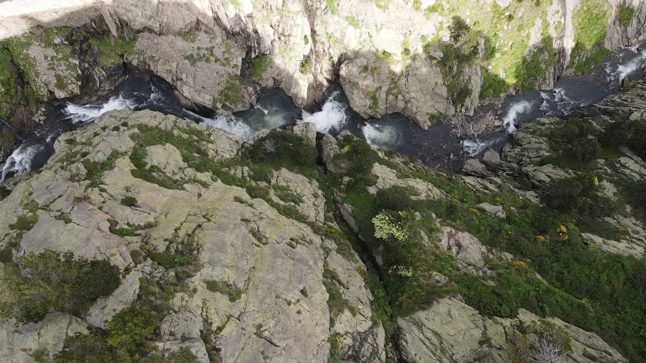
[[[402,357],[407,362],[466,363],[511,362],[509,338],[523,327],[543,321],[525,309],[516,318],[486,318],[457,298],[442,298],[426,310],[399,318],[403,337]],[[557,318],[547,322],[562,327],[572,338],[572,353],[563,362],[628,362],[598,335],[588,333]],[[526,328],[525,328],[526,329]],[[459,331],[459,334],[452,332]]]

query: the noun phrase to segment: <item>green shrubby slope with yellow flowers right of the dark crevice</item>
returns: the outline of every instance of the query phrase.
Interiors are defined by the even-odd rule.
[[[607,128],[608,132],[619,132],[625,138],[607,138],[624,145],[629,141],[622,140],[631,140],[631,145],[639,150],[645,133],[627,129],[615,123]],[[580,170],[587,170],[587,164],[607,147],[604,141],[590,137],[594,133],[588,120],[573,118],[563,125],[557,124],[550,135],[556,134],[561,138],[555,137],[556,143],[563,143],[564,147],[570,144],[569,151],[563,152],[563,160],[579,165]],[[457,178],[392,165],[401,173],[400,177],[422,178],[443,189],[452,199],[413,200],[411,197],[417,193],[402,187],[384,189],[373,196],[365,189],[371,183],[371,177],[366,177],[371,168],[362,165],[371,165],[373,161],[388,165],[388,160],[379,160],[360,143],[342,141],[340,147],[345,152],[337,156],[335,163],[346,171],[342,176],[354,175],[355,180],[346,184],[344,203],[353,207],[366,253],[377,248],[381,251],[383,265],[376,274],[368,272],[366,284],[375,296],[375,315],[384,327],[393,326],[397,316],[422,309],[439,296],[459,292],[467,304],[483,315],[511,317],[523,307],[539,316],[557,316],[594,331],[633,360],[646,353],[641,329],[646,322],[642,313],[646,311],[646,300],[640,287],[646,276],[646,264],[630,256],[590,249],[579,233],[580,228],[614,239],[624,233],[599,220],[620,213],[622,208],[621,202],[601,194],[596,176],[581,174],[553,182],[540,191],[545,203],[541,207],[505,191],[479,195],[470,192]],[[355,170],[352,160],[364,163]],[[646,183],[624,184],[621,190],[627,198],[636,198],[631,204],[646,205]],[[475,205],[480,202],[503,205],[507,212],[505,220],[478,211]],[[468,231],[483,244],[512,253],[519,260],[511,264],[490,263],[488,268],[494,273],[483,278],[460,273],[452,256],[443,253],[434,240],[437,226],[432,213],[444,225]],[[430,243],[422,244],[421,232]],[[429,278],[433,271],[448,276],[452,283],[433,283]],[[375,275],[382,276],[383,285]]]

